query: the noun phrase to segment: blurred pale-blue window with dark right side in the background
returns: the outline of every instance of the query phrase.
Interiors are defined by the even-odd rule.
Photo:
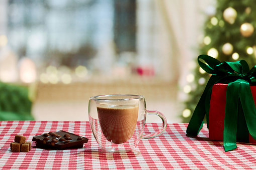
[[[135,51],[135,0],[10,0],[9,45],[20,57],[87,65],[104,44]]]

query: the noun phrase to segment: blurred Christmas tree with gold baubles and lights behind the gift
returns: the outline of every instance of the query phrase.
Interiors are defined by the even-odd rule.
[[[249,68],[256,65],[256,3],[253,0],[217,0],[216,13],[205,23],[204,38],[199,54],[223,61],[245,60]],[[197,57],[197,56],[196,56]],[[188,77],[188,100],[183,121],[189,122],[211,75],[197,64]]]

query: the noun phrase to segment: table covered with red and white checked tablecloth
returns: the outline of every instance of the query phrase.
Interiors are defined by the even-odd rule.
[[[129,153],[104,153],[93,137],[90,123],[82,121],[0,122],[1,169],[256,169],[256,145],[237,143],[225,152],[222,141],[211,141],[204,125],[198,137],[186,136],[187,123],[168,124],[153,139],[142,139]],[[147,123],[144,133],[157,131],[161,124]],[[46,150],[32,142],[29,152],[15,153],[10,143],[16,134],[27,141],[49,131],[65,130],[89,138],[83,148]]]

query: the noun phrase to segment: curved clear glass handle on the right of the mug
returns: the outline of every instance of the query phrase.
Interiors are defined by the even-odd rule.
[[[167,120],[166,120],[165,116],[161,112],[159,112],[159,111],[147,110],[146,112],[147,112],[147,114],[154,114],[154,115],[159,116],[162,119],[162,128],[158,132],[155,132],[155,133],[152,133],[152,134],[147,134],[147,135],[142,135],[141,138],[142,139],[150,139],[150,138],[157,137],[160,134],[162,134],[164,132],[164,130],[166,129]]]

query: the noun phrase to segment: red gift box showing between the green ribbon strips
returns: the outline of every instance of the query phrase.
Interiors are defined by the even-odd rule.
[[[251,94],[256,105],[256,86],[250,86]],[[215,84],[212,87],[210,111],[209,111],[209,137],[211,140],[223,141],[225,106],[226,106],[227,84]],[[239,120],[238,120],[239,121]],[[255,122],[256,123],[256,122]],[[249,134],[249,143],[256,140]]]

